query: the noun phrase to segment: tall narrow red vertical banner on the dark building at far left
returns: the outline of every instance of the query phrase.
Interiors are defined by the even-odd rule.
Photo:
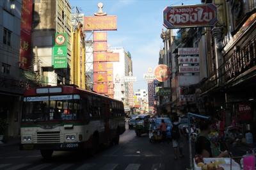
[[[20,17],[20,68],[31,66],[31,29],[33,0],[22,1]]]

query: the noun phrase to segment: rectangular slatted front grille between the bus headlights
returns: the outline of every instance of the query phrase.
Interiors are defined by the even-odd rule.
[[[60,132],[36,132],[34,141],[36,143],[61,143],[63,135]]]

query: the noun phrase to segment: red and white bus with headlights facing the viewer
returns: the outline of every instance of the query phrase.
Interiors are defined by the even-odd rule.
[[[97,150],[119,143],[125,131],[124,105],[75,86],[31,88],[24,93],[20,125],[21,150]]]

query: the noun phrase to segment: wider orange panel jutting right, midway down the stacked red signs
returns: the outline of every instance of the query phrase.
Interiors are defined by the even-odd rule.
[[[93,61],[118,62],[119,53],[118,52],[94,52]]]

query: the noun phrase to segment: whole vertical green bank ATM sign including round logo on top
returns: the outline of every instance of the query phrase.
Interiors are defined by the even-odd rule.
[[[67,68],[67,33],[56,33],[53,47],[53,68]]]

